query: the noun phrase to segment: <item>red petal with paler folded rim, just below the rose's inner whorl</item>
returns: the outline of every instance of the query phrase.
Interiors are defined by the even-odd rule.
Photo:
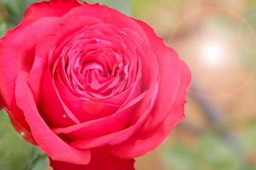
[[[130,102],[126,105],[121,105],[119,111],[111,116],[102,117],[90,122],[84,122],[77,125],[73,125],[65,128],[55,128],[55,133],[66,133],[67,136],[71,136],[71,139],[88,139],[94,138],[100,135],[106,135],[110,132],[116,132],[123,130],[131,120],[131,116],[137,105],[145,96],[146,92],[137,96],[137,86],[131,90],[131,94],[127,97],[130,98]],[[111,139],[111,138],[110,138]],[[84,147],[86,147],[84,145]]]

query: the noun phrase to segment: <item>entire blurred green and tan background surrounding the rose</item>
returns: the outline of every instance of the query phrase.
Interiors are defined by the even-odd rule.
[[[0,37],[33,0],[0,0]],[[137,170],[256,170],[256,1],[90,0],[146,21],[192,71],[185,121]],[[3,111],[2,111],[3,112]],[[0,169],[50,169],[0,114]]]

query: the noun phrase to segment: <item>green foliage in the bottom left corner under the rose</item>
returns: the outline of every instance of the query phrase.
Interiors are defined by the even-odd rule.
[[[0,113],[0,153],[0,169],[3,170],[44,170],[46,167],[46,157],[22,139],[4,111]]]

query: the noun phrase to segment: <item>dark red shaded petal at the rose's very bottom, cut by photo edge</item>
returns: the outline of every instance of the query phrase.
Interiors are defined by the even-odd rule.
[[[134,170],[134,159],[121,159],[110,155],[106,150],[91,151],[91,161],[88,165],[74,165],[61,161],[50,160],[54,170]]]

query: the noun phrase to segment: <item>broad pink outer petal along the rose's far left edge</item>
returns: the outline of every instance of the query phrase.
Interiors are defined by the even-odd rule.
[[[23,127],[29,131],[22,111],[15,104],[16,77],[20,70],[27,70],[32,65],[33,48],[55,26],[55,23],[54,17],[44,18],[28,26],[18,26],[13,31],[9,31],[6,37],[0,39],[0,94],[4,106],[13,119],[12,122],[17,122],[14,126],[20,124],[15,127],[16,129],[21,130],[20,127]]]

